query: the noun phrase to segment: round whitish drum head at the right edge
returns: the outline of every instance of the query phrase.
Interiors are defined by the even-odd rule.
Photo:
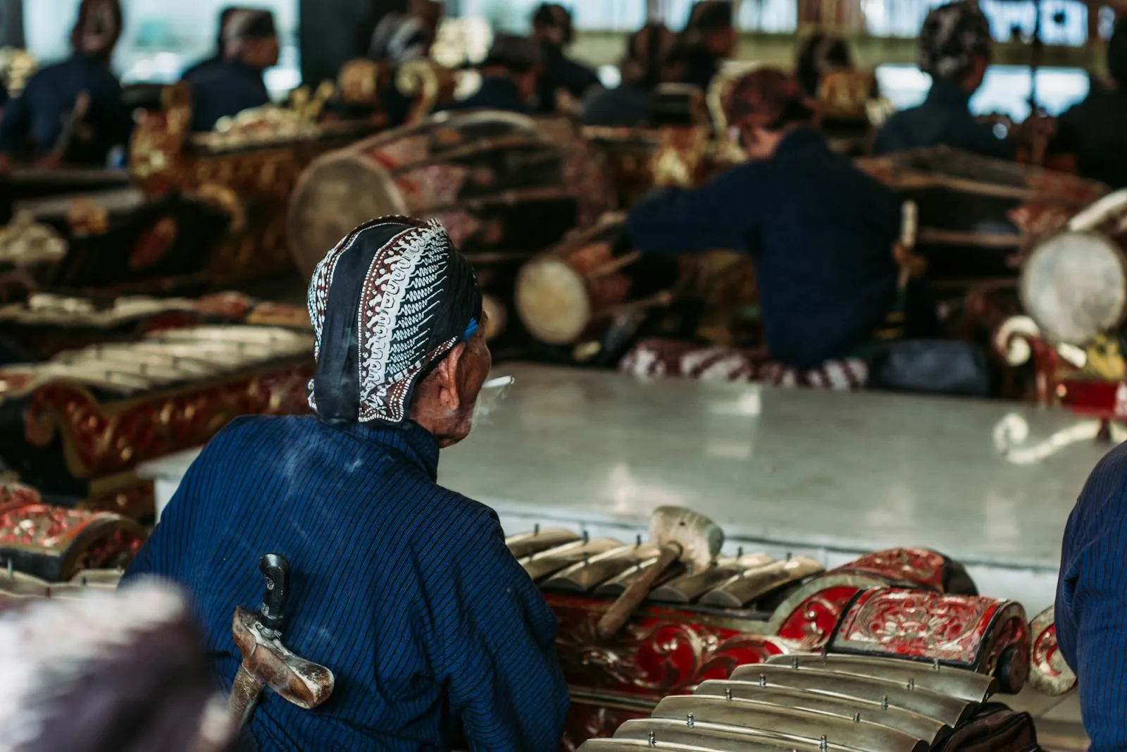
[[[1124,320],[1127,260],[1107,236],[1062,232],[1029,256],[1020,293],[1050,342],[1086,345]]]

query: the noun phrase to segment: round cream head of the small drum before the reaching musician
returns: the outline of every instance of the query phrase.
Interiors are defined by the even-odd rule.
[[[516,278],[516,312],[540,342],[569,345],[591,321],[587,284],[559,258],[533,259]]]

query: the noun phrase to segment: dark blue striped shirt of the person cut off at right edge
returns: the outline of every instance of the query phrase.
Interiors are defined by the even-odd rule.
[[[1127,750],[1127,444],[1095,466],[1068,516],[1056,629],[1090,751]]]

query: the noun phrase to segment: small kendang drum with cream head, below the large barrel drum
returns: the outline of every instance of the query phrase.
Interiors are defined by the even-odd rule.
[[[623,223],[622,214],[607,213],[521,268],[516,311],[532,337],[548,345],[598,340],[683,293],[684,265],[624,247]]]

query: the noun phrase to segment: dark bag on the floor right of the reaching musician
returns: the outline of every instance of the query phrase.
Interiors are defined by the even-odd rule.
[[[978,345],[947,339],[904,339],[876,346],[869,388],[951,397],[986,397],[990,368]]]

